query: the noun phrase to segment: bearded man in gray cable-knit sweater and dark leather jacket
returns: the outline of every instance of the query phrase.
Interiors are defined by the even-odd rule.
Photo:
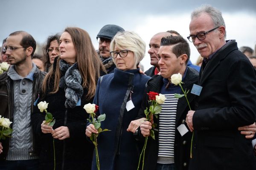
[[[13,122],[13,131],[11,138],[0,141],[1,170],[38,169],[30,115],[45,74],[32,63],[35,47],[25,31],[11,33],[3,47],[11,66],[0,75],[0,113]]]

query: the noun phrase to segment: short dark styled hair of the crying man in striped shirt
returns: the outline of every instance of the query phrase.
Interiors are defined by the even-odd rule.
[[[173,54],[175,54],[176,57],[179,57],[182,54],[186,54],[188,56],[186,63],[189,61],[189,57],[190,57],[189,43],[183,37],[181,37],[180,35],[163,37],[161,39],[161,46],[166,46],[166,45],[175,45],[172,48]]]

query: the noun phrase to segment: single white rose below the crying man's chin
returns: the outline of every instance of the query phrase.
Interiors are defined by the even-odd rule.
[[[182,90],[182,92],[183,92],[183,94],[174,94],[174,97],[175,97],[175,98],[181,98],[181,97],[185,96],[186,101],[187,101],[187,103],[188,103],[188,105],[189,105],[189,100],[188,100],[188,98],[187,98],[187,94],[189,93],[189,90],[187,91],[187,90],[185,89],[185,91],[184,91],[183,88],[182,88],[182,85],[181,85],[181,84],[184,84],[184,83],[182,82],[182,75],[181,75],[180,73],[178,73],[178,74],[173,74],[173,75],[171,76],[171,82],[172,82],[174,85],[179,85],[180,88],[181,88],[181,90]],[[191,110],[190,105],[189,105],[189,110]],[[192,139],[191,139],[190,158],[192,158],[192,142],[193,142],[193,136],[194,136],[194,132],[192,133]]]

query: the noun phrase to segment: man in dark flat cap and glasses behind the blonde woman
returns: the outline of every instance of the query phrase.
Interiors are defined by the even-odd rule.
[[[112,38],[119,31],[125,31],[122,27],[116,25],[105,25],[99,31],[97,35],[97,41],[99,42],[99,57],[102,60],[103,65],[106,68],[106,71],[109,73],[113,73],[116,65],[114,64],[110,53],[109,46]]]

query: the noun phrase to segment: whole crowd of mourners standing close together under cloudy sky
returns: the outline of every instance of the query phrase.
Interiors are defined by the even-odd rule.
[[[99,30],[98,50],[87,31],[67,27],[47,38],[43,55],[34,54],[26,31],[9,34],[0,115],[13,131],[0,138],[0,170],[97,170],[90,137],[99,131],[83,108],[88,103],[99,106],[97,116],[105,113],[101,128],[110,130],[98,136],[102,170],[255,170],[256,50],[226,40],[221,11],[209,5],[192,12],[189,31],[187,40],[173,30],[152,34],[145,73],[146,43],[117,25]],[[200,54],[196,65],[190,42]],[[187,98],[175,97],[183,91],[171,83],[178,73]],[[166,98],[151,120],[149,92]],[[53,126],[38,108],[44,101]]]

